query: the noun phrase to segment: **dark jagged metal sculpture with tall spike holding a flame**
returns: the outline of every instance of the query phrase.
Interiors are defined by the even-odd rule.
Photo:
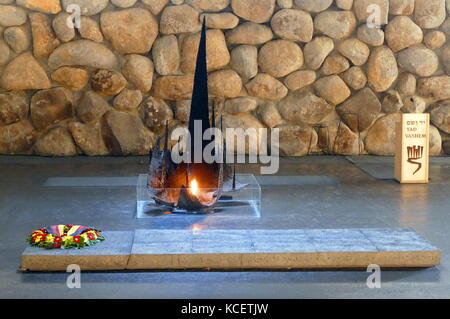
[[[195,141],[195,124],[198,125],[201,123],[202,125],[202,155],[205,147],[212,142],[205,141],[203,134],[211,127],[216,127],[215,107],[213,107],[212,113],[212,120],[210,122],[206,62],[206,26],[205,21],[203,21],[188,126],[191,141]],[[227,180],[230,178],[228,165],[225,161],[224,163],[206,163],[203,160],[203,156],[201,161],[195,162],[195,145],[193,142],[188,143],[188,146],[184,150],[187,152],[186,157],[189,161],[187,163],[176,164],[172,160],[171,150],[169,149],[168,123],[166,123],[166,131],[163,138],[163,149],[161,149],[162,138],[160,138],[150,157],[148,190],[155,202],[173,208],[176,211],[202,213],[213,211],[214,205],[222,196],[224,179]],[[223,145],[222,149],[225,159],[225,142],[222,139],[221,143],[218,144]],[[218,151],[218,149],[214,149],[214,152]]]

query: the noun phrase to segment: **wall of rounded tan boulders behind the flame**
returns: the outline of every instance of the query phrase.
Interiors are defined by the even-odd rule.
[[[148,153],[166,120],[187,121],[206,15],[226,126],[280,128],[283,155],[388,155],[400,114],[430,112],[432,153],[449,154],[447,12],[445,0],[0,0],[0,153]]]

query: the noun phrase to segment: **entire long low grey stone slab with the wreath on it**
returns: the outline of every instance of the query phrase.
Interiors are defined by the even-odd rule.
[[[432,267],[440,251],[410,229],[136,230],[104,232],[81,250],[28,247],[22,271]]]

